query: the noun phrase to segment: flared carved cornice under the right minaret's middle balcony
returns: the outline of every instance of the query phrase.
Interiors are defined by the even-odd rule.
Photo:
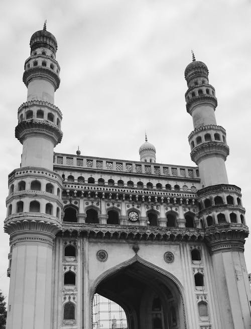
[[[190,156],[192,161],[197,164],[198,160],[212,154],[221,155],[225,160],[229,154],[229,147],[221,141],[207,141],[195,146]]]

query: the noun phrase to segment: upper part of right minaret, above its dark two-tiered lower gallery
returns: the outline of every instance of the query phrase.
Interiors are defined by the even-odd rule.
[[[187,112],[193,118],[194,130],[188,139],[191,159],[199,167],[202,186],[227,184],[225,160],[229,154],[226,131],[215,119],[217,98],[208,82],[208,69],[195,60],[185,69],[188,90],[185,94]]]

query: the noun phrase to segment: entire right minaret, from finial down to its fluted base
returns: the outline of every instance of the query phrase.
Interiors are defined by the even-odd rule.
[[[229,153],[225,129],[216,124],[217,99],[208,83],[208,69],[193,61],[185,69],[187,112],[193,118],[189,135],[191,158],[199,166],[202,189],[198,195],[198,218],[211,255],[222,329],[250,326],[251,293],[244,261],[248,236],[241,191],[229,185],[225,159]]]

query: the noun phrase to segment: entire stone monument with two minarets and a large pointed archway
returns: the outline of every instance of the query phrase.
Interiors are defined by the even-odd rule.
[[[9,175],[5,220],[7,329],[91,329],[95,293],[123,307],[129,329],[249,327],[245,209],[227,181],[206,65],[194,58],[185,70],[198,167],[156,162],[147,137],[140,161],[54,153],[57,41],[45,26],[30,45],[16,127],[22,163]]]

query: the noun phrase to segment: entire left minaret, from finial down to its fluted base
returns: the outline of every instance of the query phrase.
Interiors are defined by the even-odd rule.
[[[45,24],[30,46],[23,76],[28,96],[16,127],[22,163],[9,175],[5,220],[11,245],[7,329],[51,328],[52,251],[63,206],[62,178],[53,172],[53,149],[62,138],[62,114],[54,105],[60,83],[57,41]]]

